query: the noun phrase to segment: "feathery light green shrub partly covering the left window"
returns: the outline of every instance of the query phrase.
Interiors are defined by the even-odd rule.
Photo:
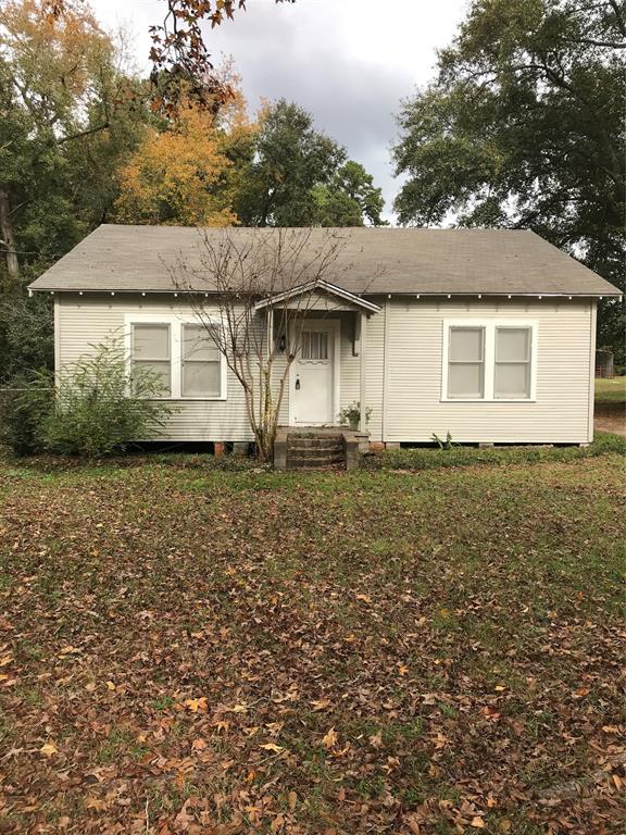
[[[57,408],[43,421],[46,446],[53,452],[99,458],[124,452],[134,440],[159,435],[172,407],[159,397],[162,382],[148,369],[128,378],[120,339],[61,370]]]

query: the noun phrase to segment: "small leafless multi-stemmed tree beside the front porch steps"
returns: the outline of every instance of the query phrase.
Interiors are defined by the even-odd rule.
[[[336,234],[311,229],[201,230],[197,263],[171,270],[206,338],[243,389],[261,460],[271,460],[289,370],[305,314],[339,254]]]

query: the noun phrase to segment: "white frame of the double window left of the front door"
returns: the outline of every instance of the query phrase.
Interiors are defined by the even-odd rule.
[[[215,319],[210,320],[214,327],[222,327],[221,322]],[[168,325],[170,326],[170,357],[172,362],[172,394],[170,397],[159,398],[159,400],[181,400],[184,402],[212,402],[226,400],[228,379],[226,358],[220,352],[220,381],[221,390],[218,395],[208,397],[185,397],[183,387],[183,325],[203,324],[198,316],[180,315],[176,313],[126,313],[124,316],[124,338],[126,347],[126,357],[128,363],[128,374],[132,371],[133,363],[133,325]]]

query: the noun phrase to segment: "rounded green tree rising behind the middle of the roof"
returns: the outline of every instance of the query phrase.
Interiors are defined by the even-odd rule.
[[[251,151],[234,205],[245,226],[381,223],[372,176],[298,104],[266,108]]]

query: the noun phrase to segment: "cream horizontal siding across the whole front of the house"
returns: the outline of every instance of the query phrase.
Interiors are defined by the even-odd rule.
[[[183,299],[154,300],[117,296],[58,298],[58,364],[74,362],[112,333],[122,334],[125,315],[173,313],[191,315]],[[456,441],[585,443],[589,438],[592,303],[584,301],[517,302],[473,300],[376,299],[383,306],[367,320],[365,403],[372,409],[372,440],[427,441],[433,433],[452,434]],[[339,408],[361,398],[361,358],[352,352],[354,317],[339,319]],[[536,402],[441,402],[442,323],[446,319],[531,319],[538,322]],[[278,358],[275,382],[284,361]],[[245,399],[228,372],[225,401],[176,401],[167,422],[172,440],[250,440]],[[289,386],[280,422],[289,414]]]

